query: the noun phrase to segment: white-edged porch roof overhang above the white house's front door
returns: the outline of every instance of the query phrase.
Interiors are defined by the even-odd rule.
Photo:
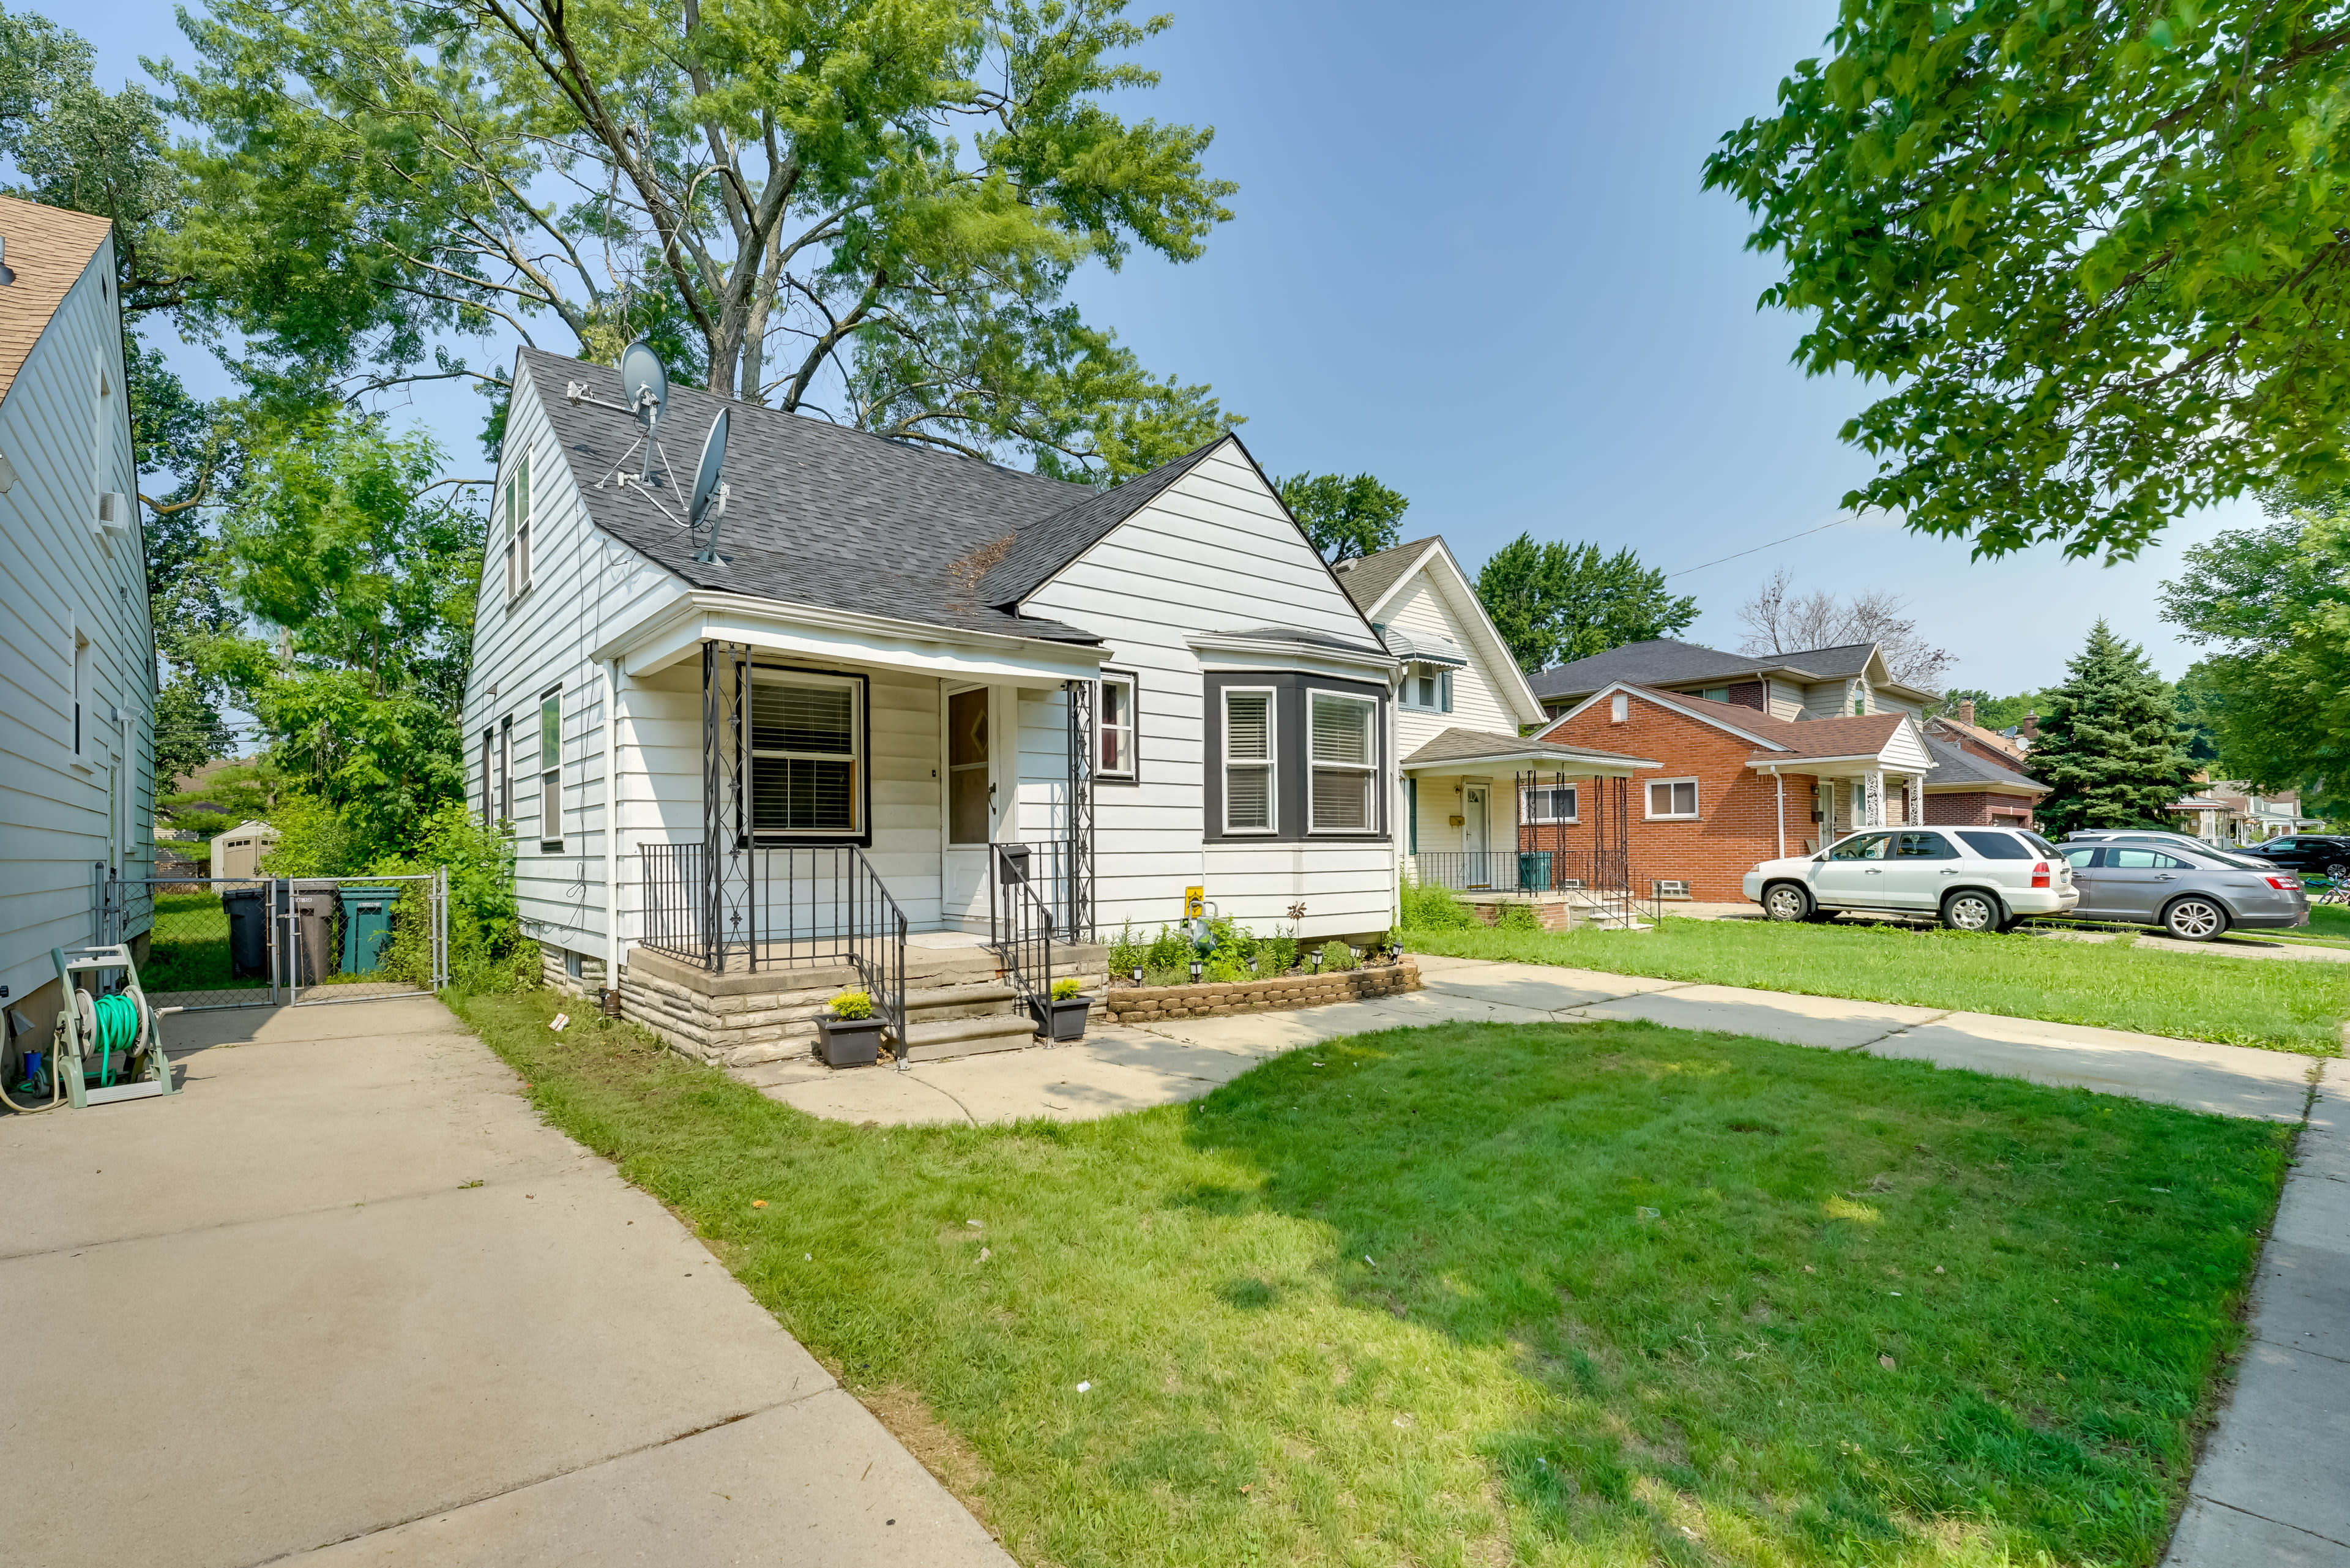
[[[1015,686],[1093,679],[1109,656],[1109,649],[1093,642],[1006,637],[1003,632],[954,630],[736,592],[691,592],[609,637],[595,649],[595,658],[599,663],[618,658],[627,675],[644,677],[691,658],[705,642],[740,642],[764,654],[792,658],[921,670]]]

